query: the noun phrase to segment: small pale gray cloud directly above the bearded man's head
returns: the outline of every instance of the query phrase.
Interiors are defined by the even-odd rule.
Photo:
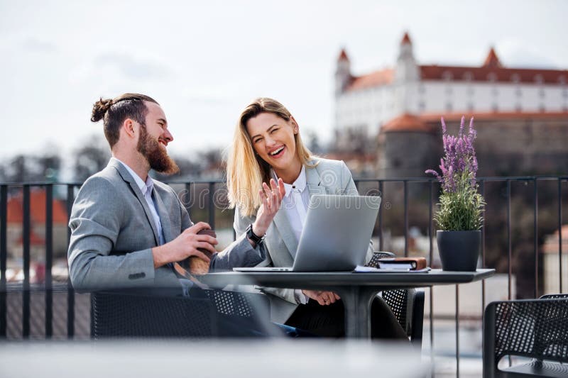
[[[165,79],[173,74],[170,67],[161,62],[119,52],[107,52],[95,57],[94,65],[114,68],[129,79]]]

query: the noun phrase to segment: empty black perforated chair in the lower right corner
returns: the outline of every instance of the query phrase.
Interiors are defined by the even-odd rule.
[[[530,362],[500,369],[503,357]],[[568,377],[568,294],[498,301],[484,313],[484,378]]]

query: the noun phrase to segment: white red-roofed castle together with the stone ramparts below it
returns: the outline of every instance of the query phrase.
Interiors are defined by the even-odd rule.
[[[408,33],[394,67],[369,74],[352,74],[342,50],[335,72],[335,147],[349,150],[354,134],[376,138],[379,177],[423,177],[441,157],[439,118],[459,124],[463,114],[476,119],[481,174],[565,171],[567,81],[568,70],[505,67],[493,48],[478,67],[420,65]],[[501,166],[483,165],[495,157],[503,157]],[[483,172],[488,167],[493,171]],[[536,172],[540,167],[547,172]]]

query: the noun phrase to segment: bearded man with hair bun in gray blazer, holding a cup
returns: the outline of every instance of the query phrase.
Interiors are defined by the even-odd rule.
[[[179,171],[166,151],[173,136],[158,102],[143,94],[99,99],[91,121],[101,119],[112,157],[84,182],[72,207],[67,258],[75,289],[181,286],[187,293],[192,284],[178,277],[175,262],[197,256],[219,270],[264,260],[256,241],[280,208],[283,183],[259,191],[263,204],[251,232],[217,253],[217,240],[199,234],[209,225],[193,224],[175,191],[148,176],[150,169]],[[199,249],[212,252],[211,259]]]

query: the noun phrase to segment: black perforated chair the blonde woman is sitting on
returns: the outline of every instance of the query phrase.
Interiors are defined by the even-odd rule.
[[[395,257],[391,252],[375,252],[368,266],[377,267],[378,259]],[[398,323],[417,348],[422,347],[422,329],[424,325],[424,291],[416,289],[385,290],[382,298],[391,308]]]

